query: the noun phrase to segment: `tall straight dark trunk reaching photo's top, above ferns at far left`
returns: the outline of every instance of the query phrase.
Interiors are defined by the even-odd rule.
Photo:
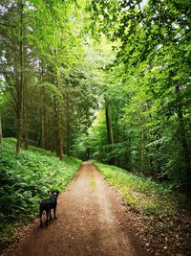
[[[17,143],[16,153],[20,152],[22,132],[23,132],[23,2],[20,1],[20,43],[19,43],[19,59],[20,59],[20,80],[18,86],[18,111],[17,111]]]

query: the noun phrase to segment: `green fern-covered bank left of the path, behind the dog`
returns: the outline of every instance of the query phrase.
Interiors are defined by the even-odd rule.
[[[0,152],[0,246],[15,233],[19,223],[36,217],[39,201],[53,189],[64,190],[76,175],[81,161],[30,147],[15,153],[15,139],[4,139]]]

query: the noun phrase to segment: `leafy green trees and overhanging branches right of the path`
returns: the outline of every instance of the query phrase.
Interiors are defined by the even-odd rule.
[[[126,156],[117,165],[190,191],[190,1],[93,2],[96,30],[118,41],[111,102]]]

